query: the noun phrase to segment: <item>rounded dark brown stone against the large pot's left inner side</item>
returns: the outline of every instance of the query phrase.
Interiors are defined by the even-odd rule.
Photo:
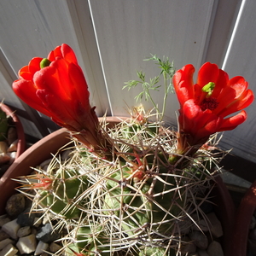
[[[25,195],[12,195],[6,203],[5,210],[9,216],[18,216],[25,209]]]

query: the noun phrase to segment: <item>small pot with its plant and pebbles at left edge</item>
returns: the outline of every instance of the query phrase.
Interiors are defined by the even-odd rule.
[[[3,102],[0,103],[0,143],[1,177],[26,148],[25,135],[20,119]]]

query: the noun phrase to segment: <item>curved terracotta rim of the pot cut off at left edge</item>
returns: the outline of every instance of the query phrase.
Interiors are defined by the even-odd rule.
[[[20,156],[20,154],[22,154],[26,149],[26,140],[23,126],[20,122],[20,119],[17,117],[17,115],[11,108],[9,108],[3,103],[0,104],[0,108],[7,114],[7,116],[10,116],[14,121],[18,137],[17,151],[15,156],[15,159],[17,159]]]

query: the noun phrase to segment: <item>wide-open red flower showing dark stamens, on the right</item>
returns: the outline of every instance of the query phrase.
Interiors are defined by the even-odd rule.
[[[211,134],[229,131],[247,119],[241,111],[253,102],[253,91],[247,90],[247,81],[242,77],[229,79],[227,73],[217,65],[205,63],[198,72],[196,84],[193,83],[195,67],[186,65],[173,77],[174,88],[180,103],[178,153],[188,148],[201,146]]]

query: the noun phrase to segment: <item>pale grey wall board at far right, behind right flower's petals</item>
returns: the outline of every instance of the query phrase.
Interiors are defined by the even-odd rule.
[[[224,70],[230,78],[243,76],[249,83],[249,88],[256,93],[256,2],[242,1],[241,10],[236,20],[236,26],[230,39],[230,47],[224,59]],[[224,133],[221,147],[234,148],[237,154],[247,160],[256,161],[256,102],[246,108],[247,120],[233,131]]]

